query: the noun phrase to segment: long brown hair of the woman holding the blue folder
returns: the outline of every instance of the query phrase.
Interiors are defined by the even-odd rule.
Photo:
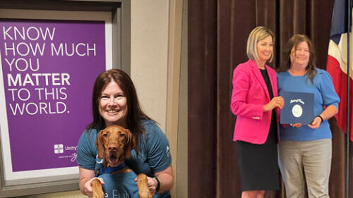
[[[285,56],[284,56],[284,57],[287,57],[287,59],[285,59],[285,63],[280,66],[278,71],[283,72],[283,71],[289,70],[291,66],[290,56],[292,53],[292,49],[296,49],[298,44],[301,42],[306,42],[309,46],[310,57],[309,57],[308,65],[306,66],[305,70],[306,70],[306,73],[308,74],[307,78],[309,78],[311,80],[311,83],[313,83],[313,78],[315,78],[315,75],[317,73],[315,48],[313,47],[313,43],[311,42],[309,37],[306,37],[306,35],[295,34],[288,40],[287,48],[285,49]]]

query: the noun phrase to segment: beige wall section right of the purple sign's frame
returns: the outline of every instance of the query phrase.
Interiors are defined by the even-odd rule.
[[[165,132],[169,1],[131,1],[131,78],[143,111]]]

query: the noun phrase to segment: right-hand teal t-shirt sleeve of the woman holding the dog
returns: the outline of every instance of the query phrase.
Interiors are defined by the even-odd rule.
[[[167,136],[164,135],[164,132],[154,122],[146,124],[145,129],[148,133],[148,164],[153,173],[164,171],[172,163]]]

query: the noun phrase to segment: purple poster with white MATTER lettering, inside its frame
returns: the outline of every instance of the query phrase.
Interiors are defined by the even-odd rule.
[[[0,53],[12,171],[77,166],[106,69],[104,21],[1,19]]]

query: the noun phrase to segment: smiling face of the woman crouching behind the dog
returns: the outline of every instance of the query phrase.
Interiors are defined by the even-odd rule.
[[[114,81],[105,85],[100,96],[100,116],[105,125],[121,125],[126,128],[128,105],[126,96],[120,86]]]

